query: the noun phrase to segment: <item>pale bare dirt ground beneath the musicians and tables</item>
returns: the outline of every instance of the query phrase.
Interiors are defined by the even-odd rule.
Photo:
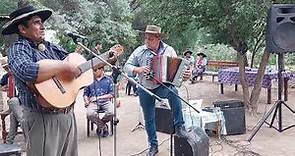
[[[123,83],[123,82],[121,82]],[[261,90],[259,98],[259,114],[255,116],[246,113],[246,134],[210,137],[210,155],[211,156],[289,156],[295,154],[295,128],[288,129],[284,132],[278,132],[273,128],[268,128],[266,124],[259,129],[258,133],[251,142],[248,139],[253,127],[259,121],[261,116],[273,105],[277,99],[276,81],[273,82],[272,88],[272,104],[266,104],[266,89]],[[290,82],[290,85],[294,82]],[[187,89],[186,89],[187,88]],[[188,94],[187,95],[187,91]],[[185,82],[179,89],[180,95],[187,99],[203,99],[203,106],[212,106],[212,102],[217,100],[241,99],[241,87],[237,92],[234,91],[234,86],[225,85],[224,94],[219,93],[219,85],[211,81],[211,77],[205,77],[203,81],[196,84]],[[139,112],[138,97],[126,96],[124,88],[120,90],[120,100],[122,105],[117,109],[119,123],[116,126],[116,135],[99,139],[92,131],[90,137],[86,136],[86,115],[85,108],[82,102],[82,96],[78,96],[75,106],[75,113],[78,125],[78,143],[80,156],[111,156],[114,151],[118,156],[143,156],[147,148],[147,139],[145,130],[137,129],[132,132],[132,129],[142,121],[142,116]],[[295,109],[295,89],[289,87],[289,100],[286,102],[288,106]],[[283,107],[283,126],[295,124],[295,115],[290,113]],[[272,116],[270,116],[271,118]],[[270,120],[269,118],[269,120]],[[274,125],[277,125],[275,120]],[[158,139],[161,143],[158,156],[170,155],[170,135],[158,133]],[[2,140],[1,140],[2,141]],[[22,135],[17,136],[17,143],[22,144]],[[115,143],[114,143],[115,141]],[[114,150],[114,146],[116,147]],[[23,154],[25,155],[25,154]]]

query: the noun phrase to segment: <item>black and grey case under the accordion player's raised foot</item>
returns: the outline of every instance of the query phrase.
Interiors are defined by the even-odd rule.
[[[209,137],[200,127],[194,127],[188,138],[174,136],[175,156],[208,156]]]

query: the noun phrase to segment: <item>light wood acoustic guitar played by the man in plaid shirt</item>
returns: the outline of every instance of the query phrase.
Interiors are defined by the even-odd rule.
[[[108,52],[99,55],[107,62],[114,64],[117,57],[123,53],[123,46],[115,45]],[[89,61],[78,54],[71,53],[63,61],[70,62],[81,70],[81,74],[73,80],[67,80],[62,74],[51,79],[34,84],[38,103],[46,108],[66,108],[75,102],[79,90],[93,83],[93,69],[106,65],[99,58]]]

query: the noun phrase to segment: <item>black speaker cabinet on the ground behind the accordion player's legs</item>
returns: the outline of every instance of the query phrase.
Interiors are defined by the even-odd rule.
[[[166,106],[156,106],[156,130],[162,133],[173,133],[173,116]]]

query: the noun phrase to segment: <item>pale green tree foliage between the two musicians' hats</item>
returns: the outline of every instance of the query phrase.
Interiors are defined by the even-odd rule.
[[[89,48],[93,48],[97,41],[103,45],[103,51],[116,43],[124,45],[127,51],[134,48],[136,36],[131,27],[132,14],[127,1],[67,0],[52,3],[44,0],[44,3],[56,12],[49,24],[51,29],[59,31],[59,38],[66,31],[77,32],[90,38]],[[67,47],[69,51],[70,48]]]

